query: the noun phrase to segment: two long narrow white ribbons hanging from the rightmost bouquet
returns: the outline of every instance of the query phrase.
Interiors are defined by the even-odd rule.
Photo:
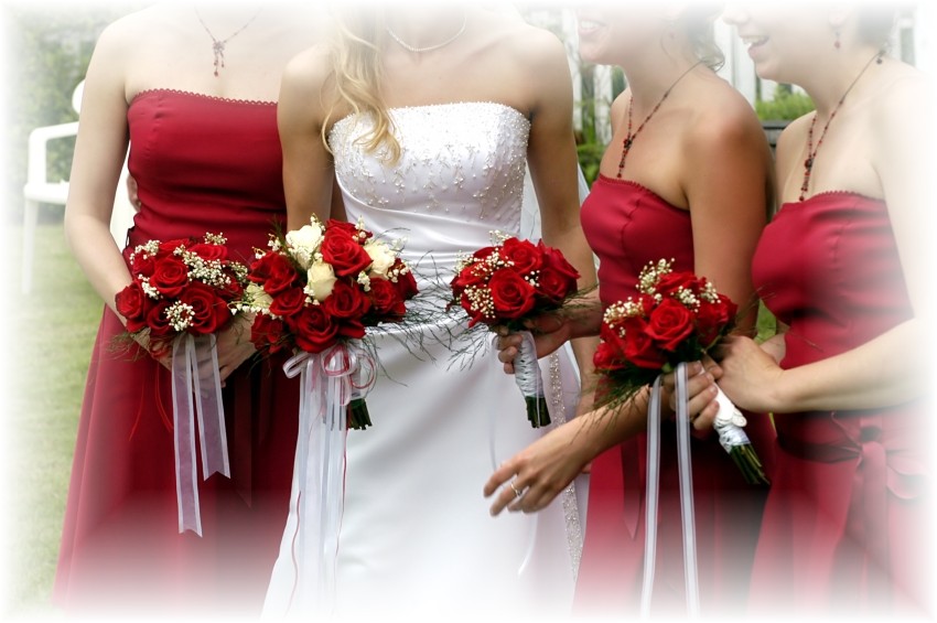
[[[687,364],[677,365],[677,464],[680,482],[680,515],[683,531],[683,579],[687,613],[699,616],[699,578],[697,574],[697,528],[693,513],[693,475],[690,464],[690,413],[687,389]],[[657,507],[660,484],[660,377],[650,388],[647,413],[647,516],[644,545],[644,578],[640,590],[640,614],[650,615],[654,592],[654,563],[657,557]]]

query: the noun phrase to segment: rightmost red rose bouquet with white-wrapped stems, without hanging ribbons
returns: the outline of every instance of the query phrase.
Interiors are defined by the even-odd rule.
[[[706,278],[675,272],[658,260],[640,272],[637,297],[605,310],[595,352],[596,372],[605,379],[599,404],[621,404],[681,362],[700,359],[733,326],[736,305]],[[761,460],[742,427],[745,418],[719,391],[713,428],[750,484],[767,484]]]

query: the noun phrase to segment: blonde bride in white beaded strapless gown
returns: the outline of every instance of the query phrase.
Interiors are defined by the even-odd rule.
[[[333,30],[335,41],[294,58],[282,83],[291,229],[331,215],[402,230],[421,290],[445,288],[438,276],[454,275],[457,255],[491,244],[492,230],[526,235],[529,167],[543,241],[577,266],[581,287],[594,283],[570,76],[553,35],[470,2],[343,8]],[[451,321],[421,329],[456,330]],[[540,434],[514,380],[491,352],[464,369],[450,367],[441,344],[418,357],[392,335],[373,339],[386,376],[368,395],[374,426],[347,436],[334,590],[301,580],[313,561],[295,546],[310,527],[294,482],[266,614],[568,612],[581,547],[574,491],[537,515],[498,518],[482,494],[493,461]],[[591,347],[573,346],[580,364]],[[543,364],[560,419],[572,417],[570,357]]]

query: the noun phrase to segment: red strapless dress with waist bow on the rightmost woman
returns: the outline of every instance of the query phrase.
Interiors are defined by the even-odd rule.
[[[754,258],[790,326],[784,368],[831,357],[913,316],[884,202],[847,192],[785,204]],[[887,366],[888,362],[881,362]],[[758,612],[913,612],[930,551],[920,401],[779,413],[776,472],[752,580]]]

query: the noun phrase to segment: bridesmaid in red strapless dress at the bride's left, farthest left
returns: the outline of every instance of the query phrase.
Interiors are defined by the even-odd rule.
[[[110,24],[87,72],[65,232],[105,301],[91,353],[53,601],[69,613],[259,614],[287,518],[298,384],[236,326],[218,336],[231,479],[200,482],[203,536],[180,534],[171,375],[118,352],[115,293],[151,238],[224,233],[240,260],[286,222],[276,99],[312,45],[300,3],[161,2]],[[139,212],[109,233],[128,150]],[[119,189],[119,192],[125,192]]]

